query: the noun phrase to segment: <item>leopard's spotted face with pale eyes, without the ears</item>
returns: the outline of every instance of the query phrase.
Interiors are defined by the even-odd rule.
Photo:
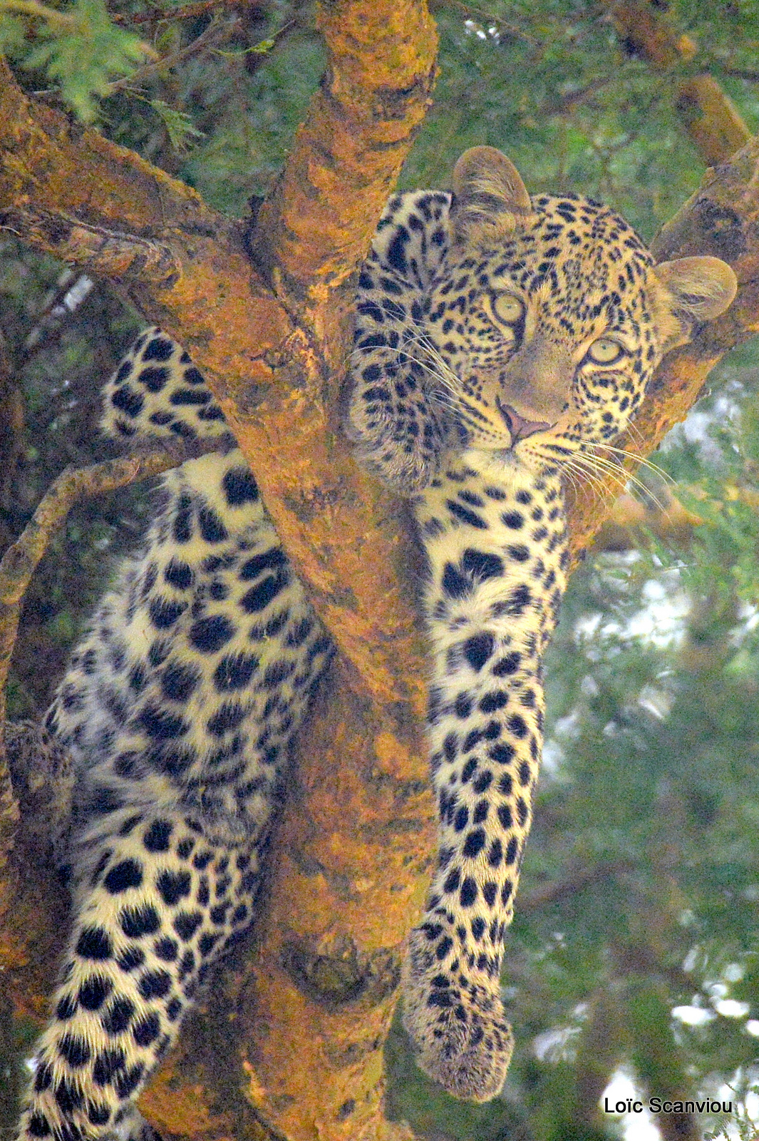
[[[529,228],[446,267],[427,359],[465,447],[561,461],[627,427],[662,353],[660,305],[618,215],[578,197],[533,208]]]

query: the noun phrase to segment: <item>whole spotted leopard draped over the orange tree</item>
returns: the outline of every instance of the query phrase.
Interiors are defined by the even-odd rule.
[[[421,1068],[488,1101],[514,1049],[500,977],[569,569],[566,486],[606,470],[664,353],[724,313],[731,267],[655,265],[613,210],[530,196],[474,147],[393,195],[357,286],[344,428],[411,507],[438,810],[402,956]],[[122,440],[218,437],[164,477],[142,549],[46,723],[77,770],[73,920],[18,1136],[150,1136],[134,1099],[253,920],[289,750],[333,653],[191,358],[157,327],[106,387]]]

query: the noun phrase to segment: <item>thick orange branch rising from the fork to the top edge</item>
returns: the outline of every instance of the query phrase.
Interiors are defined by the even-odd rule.
[[[418,0],[336,0],[319,27],[328,68],[253,243],[297,300],[338,285],[364,257],[435,75],[434,23]]]

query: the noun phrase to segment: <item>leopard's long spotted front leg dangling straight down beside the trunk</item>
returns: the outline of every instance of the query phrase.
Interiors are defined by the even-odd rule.
[[[470,452],[416,504],[429,558],[429,737],[440,848],[403,968],[403,1022],[419,1066],[488,1101],[513,1039],[500,998],[505,931],[542,747],[542,655],[564,589],[557,476],[516,462],[500,478]]]

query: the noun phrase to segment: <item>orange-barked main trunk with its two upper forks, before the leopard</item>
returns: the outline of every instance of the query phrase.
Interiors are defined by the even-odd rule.
[[[426,758],[417,728],[424,666],[409,592],[395,573],[406,561],[395,504],[357,472],[338,438],[335,411],[346,353],[342,318],[350,304],[350,290],[341,293],[336,285],[364,256],[426,110],[434,70],[434,34],[424,8],[385,8],[383,15],[376,7],[343,2],[323,16],[330,68],[315,99],[316,128],[307,124],[293,152],[294,160],[304,162],[304,189],[317,197],[304,197],[293,186],[292,193],[300,195],[295,215],[308,218],[303,258],[297,262],[291,246],[291,262],[279,270],[279,280],[292,270],[293,281],[307,286],[302,329],[251,268],[239,224],[99,136],[84,132],[83,141],[75,139],[63,116],[38,114],[8,73],[0,95],[0,205],[6,217],[16,219],[38,248],[104,276],[125,273],[124,284],[140,308],[188,347],[230,424],[240,431],[285,545],[345,652],[333,673],[340,683],[329,709],[319,710],[305,735],[302,784],[294,791],[274,860],[272,936],[264,938],[260,956],[240,969],[242,993],[229,1011],[220,1014],[214,1008],[197,1034],[193,1030],[201,1020],[190,1020],[182,1050],[144,1098],[145,1108],[168,1131],[264,1136],[268,1131],[253,1118],[266,1117],[279,1136],[326,1141],[358,1139],[364,1131],[376,1139],[398,1133],[381,1111],[381,1046],[392,1009],[397,947],[410,895],[423,890],[419,863],[432,842]],[[415,48],[419,37],[425,41],[421,52]],[[352,52],[350,60],[340,52]],[[372,74],[386,89],[381,83],[362,105],[356,84]],[[332,144],[326,155],[324,147]],[[23,156],[23,177],[11,177],[11,149]],[[5,183],[3,161],[6,175],[11,172]],[[47,194],[46,163],[70,179],[70,196],[63,196],[58,215],[57,192]],[[129,201],[120,197],[125,168],[133,184]],[[275,201],[291,208],[281,193]],[[194,220],[202,225],[194,227]],[[383,728],[385,756],[392,748],[389,738],[395,741],[392,772],[386,762],[372,760],[375,726]],[[38,883],[36,871],[30,883],[44,892],[49,875],[42,873]],[[30,915],[32,939],[33,920]],[[52,926],[63,929],[59,922]],[[55,977],[49,964],[44,971]],[[231,973],[229,968],[222,972],[225,986],[231,986]],[[30,973],[19,968],[15,977],[23,989]],[[42,995],[42,978],[34,974],[33,980],[34,994]],[[341,986],[348,989],[341,992]],[[332,997],[325,998],[325,988]],[[351,997],[353,990],[360,1000]],[[41,1000],[34,1009],[43,1005]],[[262,1030],[266,1041],[248,1041]],[[197,1060],[214,1034],[223,1034],[223,1074],[205,1055]],[[357,1049],[358,1039],[366,1049]],[[247,1082],[242,1062],[248,1055],[266,1082]],[[252,1098],[258,1091],[263,1100],[247,1117],[238,1104],[239,1120],[230,1128],[227,1116],[213,1107],[234,1102],[235,1091],[239,1095],[243,1089]],[[203,1112],[190,1119],[186,1106],[193,1100]],[[307,1122],[310,1132],[299,1124]]]

